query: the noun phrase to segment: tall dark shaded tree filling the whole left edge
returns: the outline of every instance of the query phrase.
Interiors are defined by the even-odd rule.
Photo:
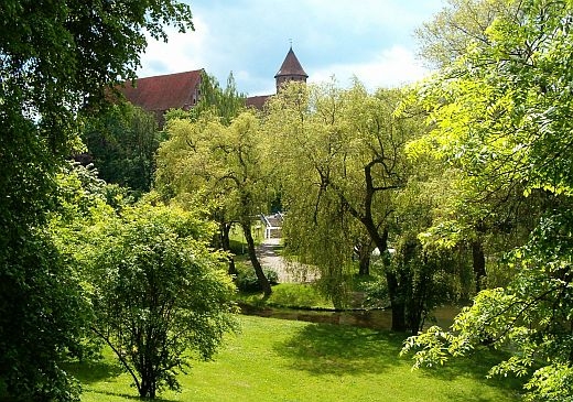
[[[0,10],[0,398],[77,399],[60,361],[85,326],[77,278],[45,231],[79,109],[134,77],[143,31],[193,28],[176,1],[29,2]],[[23,301],[26,301],[25,303]]]

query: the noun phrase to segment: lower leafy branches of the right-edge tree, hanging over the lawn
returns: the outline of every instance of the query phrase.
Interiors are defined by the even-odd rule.
[[[571,232],[572,221],[571,214],[543,219],[530,242],[512,252],[509,263],[519,269],[509,286],[482,291],[456,317],[452,333],[434,327],[410,338],[403,352],[420,349],[415,367],[443,365],[450,356],[467,355],[483,344],[509,346],[512,356],[494,366],[490,376],[528,377],[526,389],[531,393],[527,400],[566,400],[571,390],[563,381],[571,376],[573,243],[569,236],[561,241],[561,233]]]

